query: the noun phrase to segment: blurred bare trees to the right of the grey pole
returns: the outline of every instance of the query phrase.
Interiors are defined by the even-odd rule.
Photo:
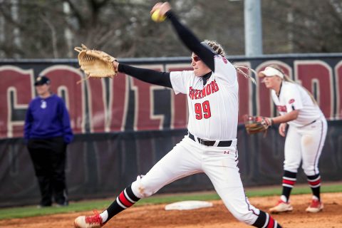
[[[342,51],[341,1],[264,0],[263,19],[264,53]]]

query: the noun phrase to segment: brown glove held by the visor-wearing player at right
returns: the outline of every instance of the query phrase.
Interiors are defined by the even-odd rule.
[[[273,120],[271,118],[266,118],[262,116],[244,116],[244,127],[249,135],[256,133],[266,133],[267,129],[273,125]]]

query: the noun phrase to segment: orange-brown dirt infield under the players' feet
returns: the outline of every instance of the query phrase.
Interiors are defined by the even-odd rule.
[[[323,212],[317,214],[306,213],[311,195],[291,196],[294,206],[293,212],[285,214],[274,214],[283,227],[301,228],[338,228],[342,227],[342,192],[324,193]],[[259,209],[267,210],[274,206],[278,197],[252,197],[250,202]],[[110,220],[105,227],[113,228],[231,228],[249,227],[237,222],[232,214],[227,212],[222,201],[212,201],[214,206],[209,208],[194,209],[187,211],[165,211],[165,204],[149,205],[144,207],[133,207],[118,214]],[[92,212],[86,212],[91,214]],[[0,227],[14,228],[45,228],[45,227],[73,227],[73,219],[83,213],[56,214],[44,217],[31,217],[26,219],[1,220]]]

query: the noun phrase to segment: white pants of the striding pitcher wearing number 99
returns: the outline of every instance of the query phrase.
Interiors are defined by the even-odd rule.
[[[227,209],[242,222],[253,224],[259,209],[249,204],[239,174],[237,141],[230,147],[208,147],[185,136],[170,152],[133,182],[133,193],[148,197],[163,186],[195,173],[204,172]]]

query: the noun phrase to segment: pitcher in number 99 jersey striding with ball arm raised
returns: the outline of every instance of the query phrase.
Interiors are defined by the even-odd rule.
[[[185,93],[189,108],[188,135],[162,157],[146,175],[126,187],[100,214],[80,216],[75,227],[102,227],[115,214],[182,177],[204,172],[229,212],[239,221],[254,227],[281,227],[266,212],[249,203],[239,175],[237,152],[238,81],[237,68],[224,57],[214,41],[200,42],[178,21],[170,4],[157,3],[180,40],[192,51],[193,71],[157,72],[113,62],[119,72],[159,86]],[[114,225],[115,226],[115,225]]]

